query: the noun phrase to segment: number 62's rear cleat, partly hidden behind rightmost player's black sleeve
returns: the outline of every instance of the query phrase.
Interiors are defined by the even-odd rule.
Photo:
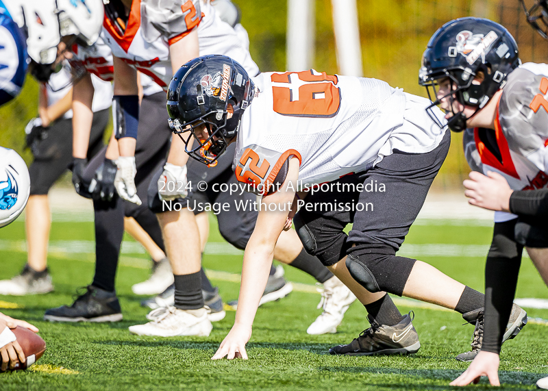
[[[484,309],[480,308],[479,310],[466,312],[462,314],[462,318],[471,325],[475,325],[474,333],[472,336],[472,350],[460,353],[456,357],[458,361],[471,362],[474,360],[477,353],[482,349],[482,343],[484,340]],[[506,340],[512,340],[515,338],[519,331],[527,324],[527,312],[523,310],[519,305],[514,304],[512,306],[512,312],[510,313],[510,319],[508,320],[508,325],[506,325],[506,331],[502,338],[502,342]]]

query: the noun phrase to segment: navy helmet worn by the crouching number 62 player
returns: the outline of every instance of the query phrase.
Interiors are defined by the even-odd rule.
[[[253,81],[232,58],[225,55],[195,58],[179,68],[169,83],[169,127],[185,142],[190,157],[214,166],[230,140],[236,137],[240,118],[253,94]],[[229,103],[234,110],[230,118]],[[196,127],[201,125],[208,130],[206,140],[200,140],[195,134]]]

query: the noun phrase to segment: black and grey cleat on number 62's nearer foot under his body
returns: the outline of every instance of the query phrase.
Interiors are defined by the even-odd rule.
[[[379,325],[369,315],[371,327],[362,331],[358,338],[346,345],[329,349],[333,355],[393,355],[411,354],[421,349],[419,336],[413,327],[413,312],[403,316],[400,323],[393,326]],[[412,316],[411,316],[412,315]]]

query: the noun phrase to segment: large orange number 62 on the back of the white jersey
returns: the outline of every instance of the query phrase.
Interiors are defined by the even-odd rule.
[[[274,73],[271,76],[274,111],[287,116],[332,117],[340,107],[337,77],[310,71]],[[319,81],[327,81],[320,83]],[[279,86],[284,83],[287,86]]]

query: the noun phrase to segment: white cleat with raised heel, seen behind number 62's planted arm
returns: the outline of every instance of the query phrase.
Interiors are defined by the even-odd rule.
[[[337,326],[343,321],[345,312],[356,300],[356,296],[335,276],[325,281],[323,289],[318,289],[318,292],[321,292],[318,309],[323,308],[323,312],[306,332],[313,336],[336,333]]]

